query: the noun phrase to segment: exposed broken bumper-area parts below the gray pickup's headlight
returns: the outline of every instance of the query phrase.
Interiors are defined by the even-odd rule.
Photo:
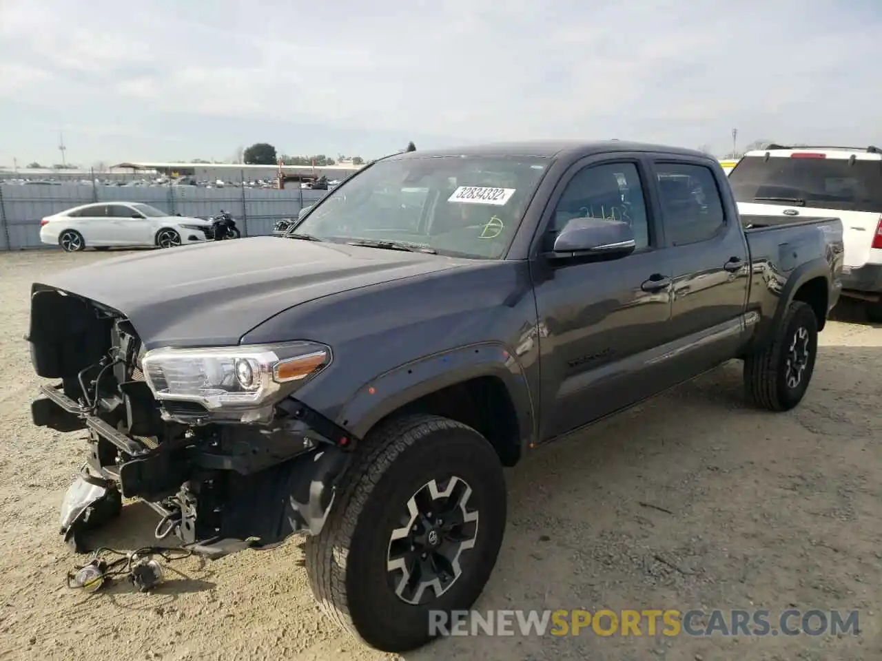
[[[118,515],[123,497],[161,516],[158,539],[173,533],[213,557],[276,546],[296,533],[318,535],[352,457],[325,437],[333,429],[307,424],[317,420],[312,411],[273,430],[223,426],[210,440],[149,447],[60,390],[42,390],[45,398],[32,405],[35,424],[89,432],[86,468],[62,506],[62,534],[80,552],[82,533]]]

